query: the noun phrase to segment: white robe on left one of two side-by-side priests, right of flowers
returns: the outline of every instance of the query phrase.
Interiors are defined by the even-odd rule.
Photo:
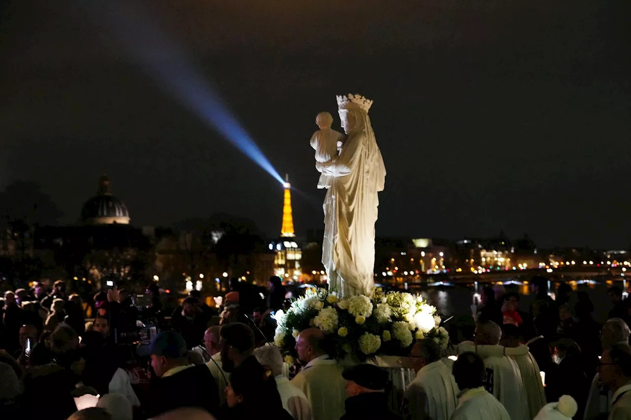
[[[516,361],[509,356],[497,356],[504,353],[503,346],[476,346],[473,342],[461,342],[459,352],[473,351],[484,360],[487,368],[489,391],[504,405],[512,420],[530,420],[526,388],[521,379],[521,372]]]

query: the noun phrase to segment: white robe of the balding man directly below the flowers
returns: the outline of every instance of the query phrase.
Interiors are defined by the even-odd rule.
[[[342,377],[343,370],[336,360],[320,356],[307,363],[290,381],[309,400],[313,420],[339,419],[344,414],[346,380]]]

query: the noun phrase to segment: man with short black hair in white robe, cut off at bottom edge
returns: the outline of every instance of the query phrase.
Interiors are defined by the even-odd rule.
[[[485,389],[486,366],[480,356],[460,354],[453,375],[461,392],[451,420],[511,420],[504,405]]]

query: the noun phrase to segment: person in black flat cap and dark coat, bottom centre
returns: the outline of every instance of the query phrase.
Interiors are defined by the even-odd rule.
[[[339,420],[397,420],[403,417],[388,407],[388,373],[362,363],[342,373],[346,380],[345,414]]]

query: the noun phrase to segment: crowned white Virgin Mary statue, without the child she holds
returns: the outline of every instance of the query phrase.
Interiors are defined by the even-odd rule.
[[[360,95],[338,96],[341,125],[347,134],[339,156],[316,163],[332,178],[324,199],[322,264],[329,291],[339,296],[372,295],[375,222],[386,167],[368,111],[372,101]]]

